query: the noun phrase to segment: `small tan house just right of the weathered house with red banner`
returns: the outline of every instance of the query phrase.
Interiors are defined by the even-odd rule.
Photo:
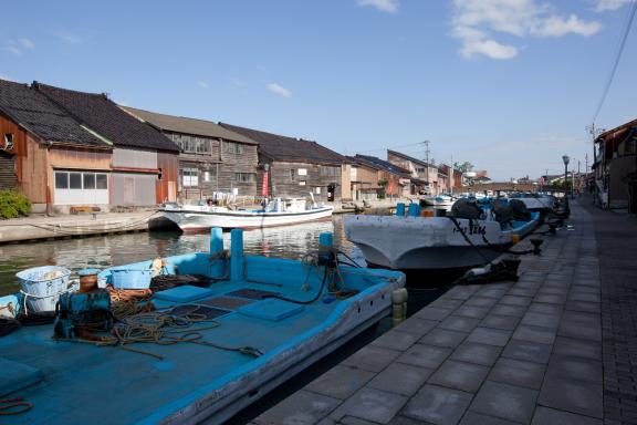
[[[359,155],[349,157],[357,165],[356,189],[362,197],[369,199],[370,190],[365,186],[369,182],[369,187],[376,187],[378,197],[401,197],[405,195],[405,187],[409,186],[409,172],[396,166],[387,160],[375,156]],[[358,174],[361,170],[361,174]],[[376,175],[374,177],[374,172]]]

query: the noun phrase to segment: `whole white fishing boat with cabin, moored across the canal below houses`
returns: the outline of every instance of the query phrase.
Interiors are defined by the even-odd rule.
[[[212,227],[255,229],[330,219],[333,209],[313,199],[276,198],[261,209],[165,205],[160,212],[182,231],[200,231]]]

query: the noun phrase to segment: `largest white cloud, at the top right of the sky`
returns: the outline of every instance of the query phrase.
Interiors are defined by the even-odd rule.
[[[467,59],[484,55],[511,59],[518,48],[497,41],[497,34],[518,38],[595,34],[602,25],[575,14],[560,15],[550,3],[536,0],[453,0],[451,35],[461,40],[460,54]]]

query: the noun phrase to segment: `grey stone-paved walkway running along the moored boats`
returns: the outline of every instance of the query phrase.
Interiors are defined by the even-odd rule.
[[[628,423],[620,413],[637,406],[624,400],[636,388],[637,313],[605,312],[605,341],[608,329],[624,340],[605,343],[603,357],[594,224],[577,204],[570,222],[573,229],[547,239],[541,257],[523,258],[518,282],[452,288],[253,424]],[[604,292],[605,303],[629,290],[631,270],[623,280],[610,273],[617,284]],[[622,332],[626,318],[630,331]],[[612,376],[603,373],[608,362]],[[616,383],[612,396],[604,382],[607,390]]]

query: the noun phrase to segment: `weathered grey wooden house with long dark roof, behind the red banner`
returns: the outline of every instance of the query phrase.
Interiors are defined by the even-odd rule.
[[[219,125],[259,143],[259,195],[305,197],[312,193],[317,200],[333,201],[342,199],[344,178],[349,185],[343,173],[345,157],[316,142]]]

